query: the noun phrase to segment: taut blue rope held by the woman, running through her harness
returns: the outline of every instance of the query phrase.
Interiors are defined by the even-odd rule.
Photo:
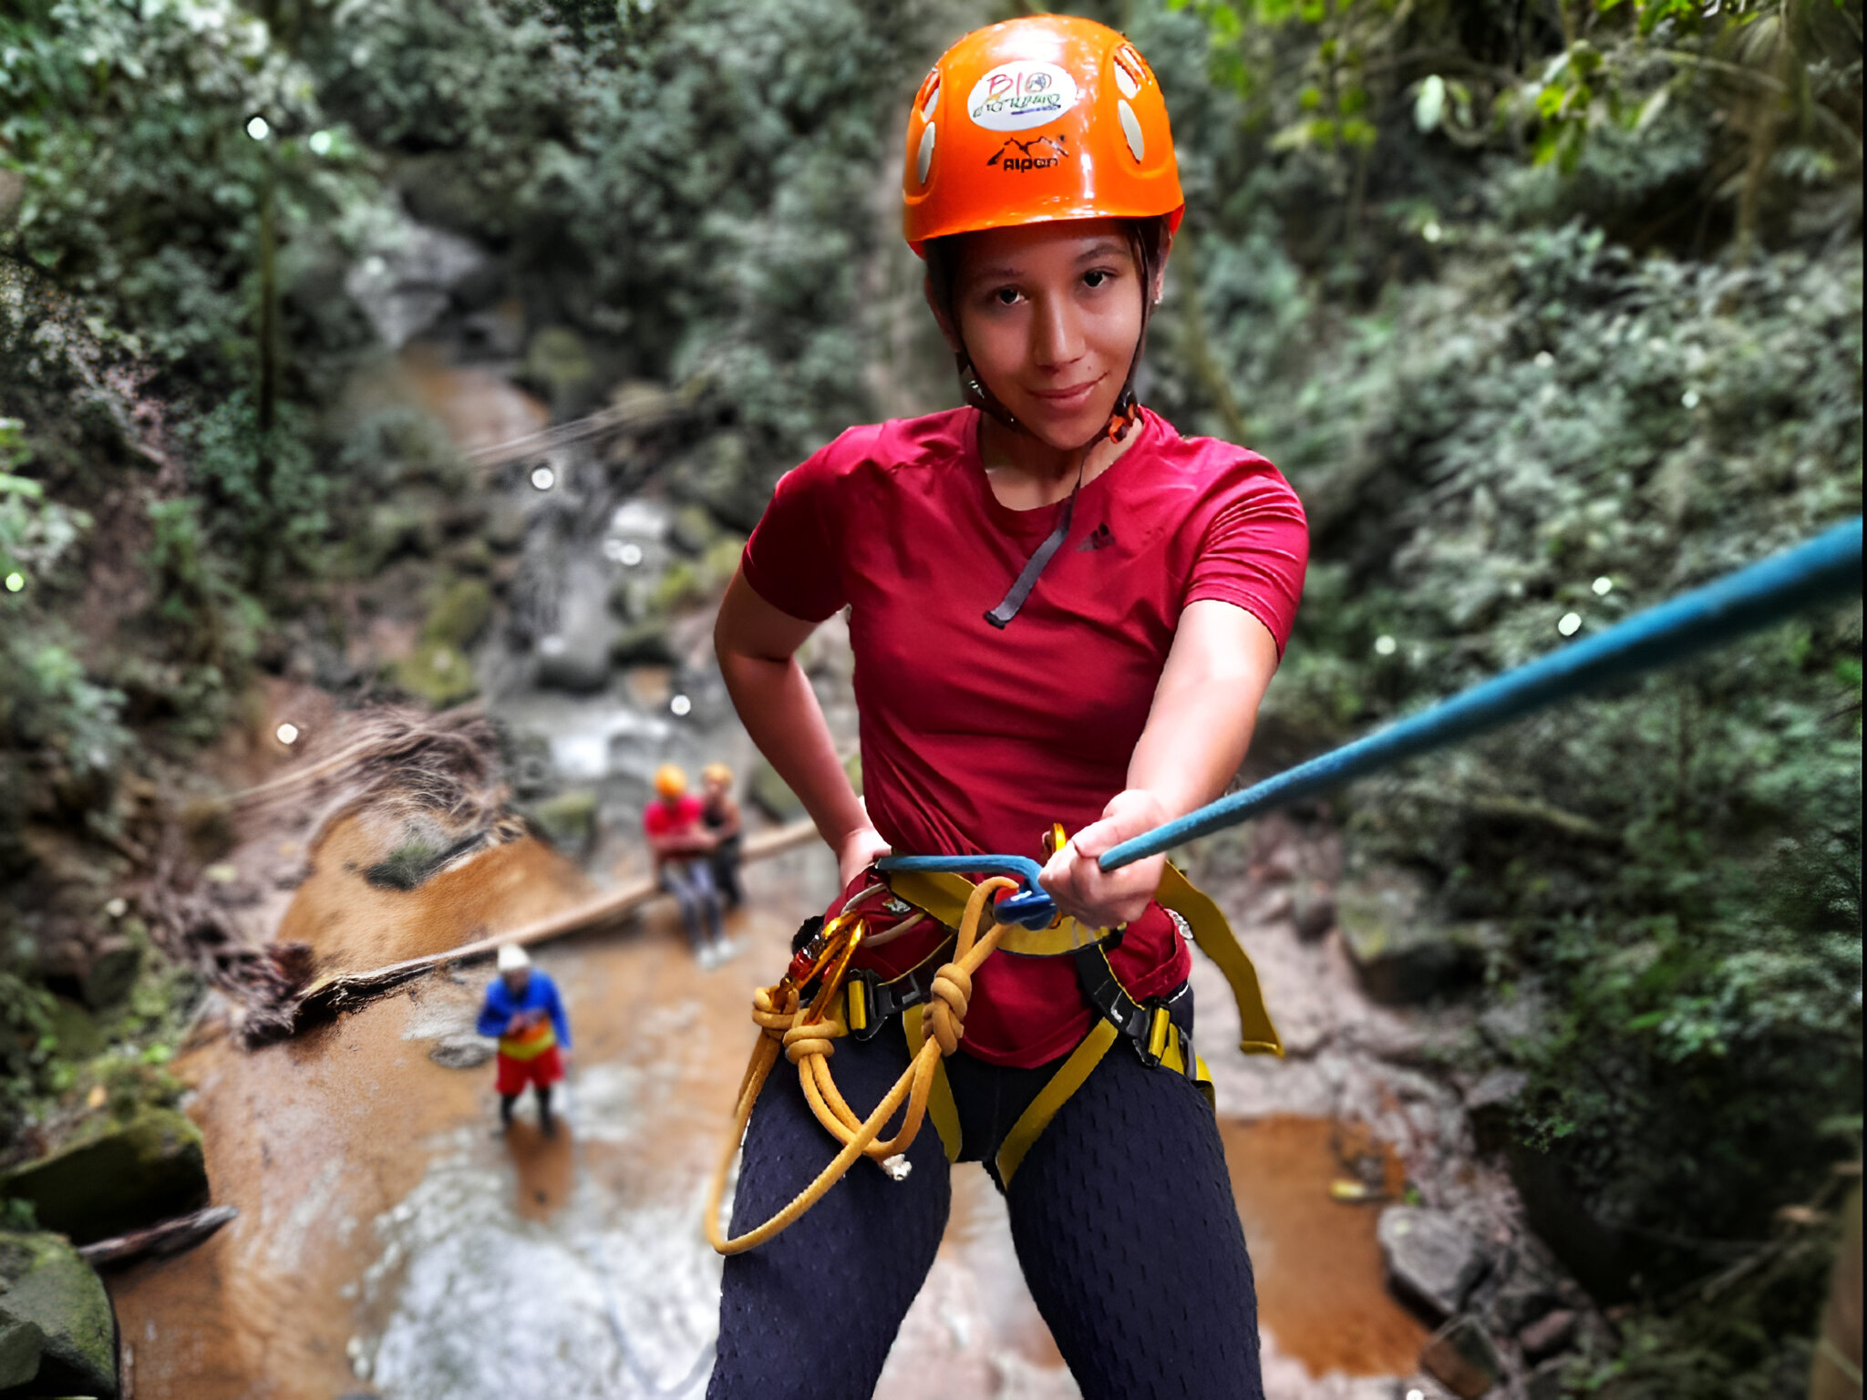
[[[1516,670],[1507,670],[1419,715],[1333,749],[1307,763],[1279,773],[1245,791],[1221,797],[1178,821],[1103,851],[1103,870],[1118,870],[1174,846],[1303,801],[1376,769],[1441,749],[1507,724],[1535,709],[1566,700],[1624,676],[1658,670],[1695,651],[1729,642],[1744,633],[1820,603],[1861,592],[1861,519],[1818,534],[1805,545],[1725,575],[1718,582],[1680,594],[1669,603],[1637,612],[1596,637],[1589,637]],[[945,870],[954,874],[1016,875],[1025,889],[999,903],[1001,918],[1049,922],[1055,909],[1036,877],[1036,861],[1021,855],[891,855],[881,870]]]

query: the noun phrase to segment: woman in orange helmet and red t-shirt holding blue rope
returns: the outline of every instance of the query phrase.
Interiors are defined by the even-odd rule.
[[[1031,855],[1130,1004],[1169,1008],[1189,1036],[1186,939],[1156,903],[1163,861],[1103,872],[1096,857],[1230,782],[1309,543],[1268,461],[1186,439],[1133,396],[1182,213],[1154,75],[1090,21],[971,34],[915,97],[904,194],[967,405],[855,427],[779,482],[721,607],[726,687],[835,849],[846,900],[891,851]],[[844,609],[861,799],[795,661]],[[1053,823],[1074,834],[1049,851]],[[864,946],[859,974],[902,986],[950,937],[922,924]],[[1034,1144],[1001,1155],[1102,1014],[1072,958],[988,958],[943,1062],[956,1141],[943,1154],[920,1133],[896,1180],[859,1161],[784,1234],[726,1260],[709,1394],[870,1394],[939,1247],[956,1157],[1004,1193],[1088,1400],[1262,1396],[1251,1262],[1189,1064],[1116,1043]],[[836,1042],[859,1114],[902,1073],[907,1034],[896,1017]],[[734,1232],[835,1155],[795,1079],[773,1073],[752,1111]],[[836,1366],[810,1363],[823,1355]]]

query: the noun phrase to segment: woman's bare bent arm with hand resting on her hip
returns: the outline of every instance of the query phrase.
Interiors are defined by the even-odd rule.
[[[771,607],[743,573],[736,573],[713,623],[713,650],[747,734],[836,851],[848,883],[877,855],[887,855],[889,846],[870,827],[836,758],[823,707],[797,665],[797,648],[814,629]]]

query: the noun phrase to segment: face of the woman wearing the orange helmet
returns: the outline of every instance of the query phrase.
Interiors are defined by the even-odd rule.
[[[954,314],[986,388],[1036,437],[1070,450],[1109,422],[1144,293],[1120,220],[1023,224],[965,237]]]

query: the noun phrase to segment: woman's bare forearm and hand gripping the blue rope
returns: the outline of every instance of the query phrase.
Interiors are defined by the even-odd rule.
[[[1187,605],[1128,760],[1128,788],[1044,868],[1044,889],[1059,909],[1094,928],[1141,917],[1165,857],[1115,872],[1103,872],[1096,857],[1225,791],[1275,674],[1277,642],[1253,614],[1215,599]]]

